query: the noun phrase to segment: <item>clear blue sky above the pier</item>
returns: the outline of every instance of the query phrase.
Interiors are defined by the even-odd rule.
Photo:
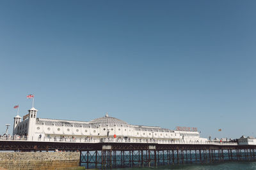
[[[204,137],[256,136],[255,9],[233,0],[1,1],[0,132],[35,94],[42,118],[108,112]]]

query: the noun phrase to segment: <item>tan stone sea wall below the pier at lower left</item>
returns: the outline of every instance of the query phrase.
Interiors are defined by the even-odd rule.
[[[79,152],[0,152],[0,169],[76,169]]]

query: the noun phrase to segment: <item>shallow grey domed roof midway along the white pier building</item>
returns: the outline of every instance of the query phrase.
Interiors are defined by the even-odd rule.
[[[93,124],[96,126],[128,126],[129,124],[127,124],[126,122],[124,122],[123,120],[120,120],[118,118],[115,117],[109,117],[108,113],[106,114],[105,117],[100,117],[100,118],[95,118],[93,120],[91,120],[89,122],[89,124]]]

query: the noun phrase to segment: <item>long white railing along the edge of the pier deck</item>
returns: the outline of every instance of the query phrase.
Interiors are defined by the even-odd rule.
[[[237,145],[233,142],[220,141],[195,141],[187,140],[164,140],[164,139],[140,139],[140,138],[31,138],[26,136],[1,136],[2,141],[42,141],[42,142],[63,142],[63,143],[152,143],[152,144],[184,144],[184,145]]]

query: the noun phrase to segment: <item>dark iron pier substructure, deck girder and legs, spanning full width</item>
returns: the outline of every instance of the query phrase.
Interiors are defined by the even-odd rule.
[[[0,150],[80,152],[81,166],[98,169],[256,160],[256,145],[0,141]]]

